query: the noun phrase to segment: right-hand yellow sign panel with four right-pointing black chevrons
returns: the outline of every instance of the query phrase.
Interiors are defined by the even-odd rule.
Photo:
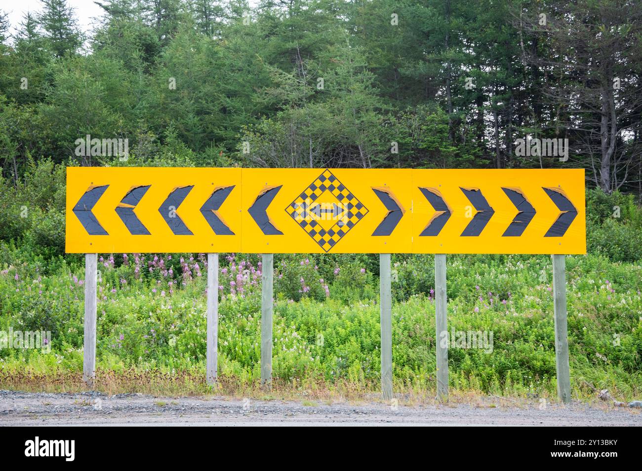
[[[415,253],[586,253],[584,169],[413,170]]]

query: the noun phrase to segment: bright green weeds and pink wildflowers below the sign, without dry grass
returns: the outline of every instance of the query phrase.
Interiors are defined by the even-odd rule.
[[[98,365],[116,370],[203,368],[206,296],[205,279],[198,274],[205,271],[204,263],[203,256],[101,257]],[[313,263],[318,263],[317,269]],[[275,277],[275,378],[377,381],[379,306],[372,275],[361,273],[358,263],[342,263],[329,280],[330,297],[299,292],[300,276],[315,279],[319,272],[336,269],[334,263],[329,256],[309,263],[296,257],[277,261],[275,272],[283,276]],[[428,289],[432,270],[426,265],[419,257],[395,264],[398,297],[403,290],[427,290],[393,304],[394,381],[399,388],[432,388],[434,383],[438,339],[435,302]],[[567,269],[574,387],[584,388],[587,381],[619,397],[639,395],[642,267],[611,263],[602,256],[569,256]],[[423,272],[428,275],[420,275]],[[82,274],[80,263],[64,262],[49,275],[28,265],[0,270],[0,331],[51,331],[50,353],[1,349],[0,369],[16,361],[24,368],[44,361],[65,370],[82,369]],[[450,256],[447,275],[449,328],[464,335],[486,335],[481,348],[451,345],[452,386],[486,393],[554,394],[550,259]],[[408,281],[417,276],[420,281],[410,288]],[[221,256],[219,279],[220,372],[241,383],[256,381],[261,350],[256,256]]]

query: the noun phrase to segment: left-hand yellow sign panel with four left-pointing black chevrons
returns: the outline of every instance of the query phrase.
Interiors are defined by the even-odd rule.
[[[67,168],[67,252],[237,252],[241,169]]]

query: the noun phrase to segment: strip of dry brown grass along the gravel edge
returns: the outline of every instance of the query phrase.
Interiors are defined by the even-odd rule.
[[[0,389],[24,392],[83,392],[91,390],[82,381],[82,372],[56,370],[52,372],[0,370]],[[216,386],[205,383],[202,372],[178,370],[96,370],[94,390],[107,395],[142,393],[153,397],[217,397],[229,399],[265,399],[281,401],[306,401],[314,404],[347,402],[358,405],[365,402],[383,402],[378,382],[351,383],[338,381],[327,383],[318,380],[285,381],[275,379],[271,388],[261,386],[259,381],[243,381],[235,377],[219,377]],[[577,398],[580,399],[580,398]],[[594,402],[590,397],[580,400]],[[478,408],[521,408],[533,406],[539,398],[487,395],[478,391],[460,391],[451,388],[448,404],[435,399],[435,390],[395,386],[395,401],[404,406],[456,406],[467,404]],[[554,397],[547,397],[554,404]],[[597,401],[599,404],[600,401]],[[603,404],[609,407],[608,404]]]

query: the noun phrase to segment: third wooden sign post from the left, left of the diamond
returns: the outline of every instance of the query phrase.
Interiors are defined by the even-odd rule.
[[[272,383],[272,274],[274,255],[263,254],[261,264],[261,384]]]

